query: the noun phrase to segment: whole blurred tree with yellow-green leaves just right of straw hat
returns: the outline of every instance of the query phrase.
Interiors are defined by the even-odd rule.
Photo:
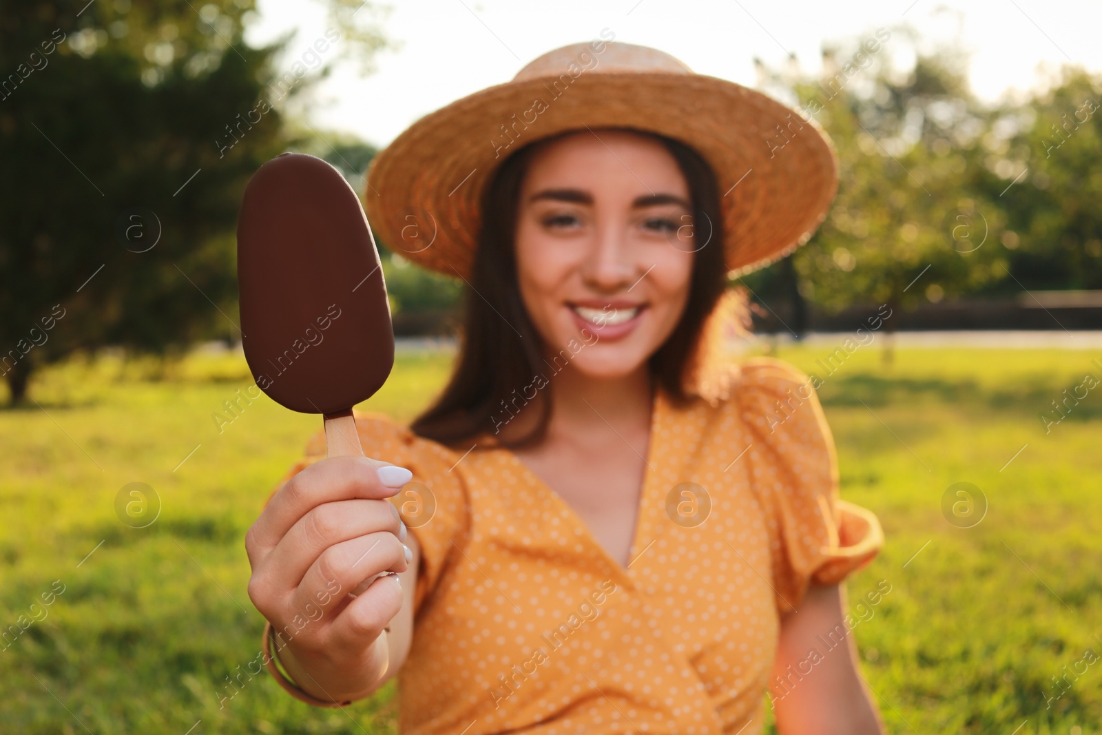
[[[992,114],[971,96],[952,51],[918,54],[906,73],[893,69],[883,50],[905,43],[907,33],[880,29],[845,53],[827,50],[819,79],[759,71],[765,86],[787,90],[801,116],[828,132],[841,179],[811,241],[761,282],[786,283],[786,270],[795,270],[795,293],[839,311],[912,309],[1005,278],[1005,250],[995,245],[1004,215],[977,186],[986,174],[979,141]],[[778,134],[776,155],[784,143]],[[793,293],[790,283],[785,289]]]

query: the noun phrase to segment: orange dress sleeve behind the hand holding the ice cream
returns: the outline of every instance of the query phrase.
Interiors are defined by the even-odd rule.
[[[421,547],[413,595],[413,614],[417,615],[436,587],[442,573],[460,555],[458,549],[469,530],[466,487],[461,475],[451,472],[460,455],[415,435],[408,426],[396,423],[386,414],[355,411],[355,418],[365,454],[413,473],[413,479],[390,501]],[[305,455],[291,466],[276,489],[325,456],[325,431],[320,430],[306,443]]]

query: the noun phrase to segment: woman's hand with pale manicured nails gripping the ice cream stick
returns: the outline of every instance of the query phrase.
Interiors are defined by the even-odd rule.
[[[321,460],[288,480],[246,533],[249,597],[276,629],[280,662],[317,699],[360,699],[397,669],[380,634],[403,606],[397,573],[412,552],[386,498],[410,477],[367,457]],[[395,574],[349,597],[386,572]]]

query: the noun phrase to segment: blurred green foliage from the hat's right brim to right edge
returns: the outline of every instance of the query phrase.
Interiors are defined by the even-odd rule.
[[[766,87],[814,118],[839,158],[838,197],[790,258],[799,294],[838,311],[1102,288],[1100,79],[1069,67],[1025,104],[988,108],[954,48],[923,51],[900,29],[880,46],[864,68],[846,66],[856,42],[827,52],[822,78],[763,69]],[[888,63],[904,47],[917,56],[906,73]],[[791,302],[792,267],[745,280],[767,302]]]

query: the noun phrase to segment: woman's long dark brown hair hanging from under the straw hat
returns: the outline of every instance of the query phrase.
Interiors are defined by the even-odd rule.
[[[574,132],[574,131],[569,131]],[[693,206],[693,241],[704,236],[693,257],[684,313],[666,342],[651,355],[657,383],[676,403],[691,396],[684,379],[709,315],[726,289],[723,258],[723,218],[711,166],[689,145],[648,131],[630,130],[660,141],[673,155],[689,185]],[[528,402],[522,396],[538,376],[549,371],[539,333],[520,296],[514,249],[518,197],[528,163],[541,145],[569,134],[547,138],[512,153],[486,186],[482,231],[464,292],[462,346],[451,380],[436,401],[411,424],[412,431],[442,444],[457,445],[495,429],[495,417],[511,415]],[[553,371],[553,370],[552,370]],[[550,381],[541,387],[541,413],[534,428],[518,440],[499,443],[517,447],[539,443],[551,418]],[[539,386],[539,383],[537,383]],[[506,411],[510,411],[506,413]],[[498,418],[498,421],[500,419]]]

